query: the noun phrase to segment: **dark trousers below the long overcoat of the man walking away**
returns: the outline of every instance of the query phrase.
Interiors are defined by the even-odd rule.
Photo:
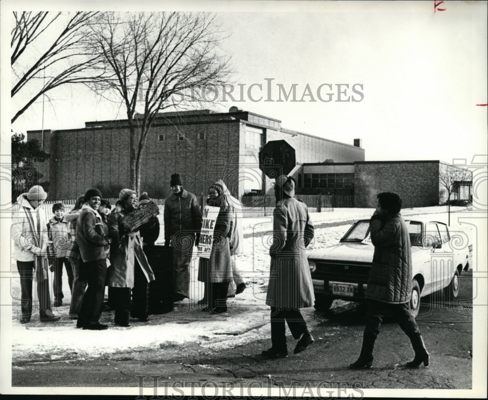
[[[284,310],[271,307],[271,346],[286,347],[285,321],[290,328],[291,335],[299,340],[307,331],[306,322],[299,309]]]

